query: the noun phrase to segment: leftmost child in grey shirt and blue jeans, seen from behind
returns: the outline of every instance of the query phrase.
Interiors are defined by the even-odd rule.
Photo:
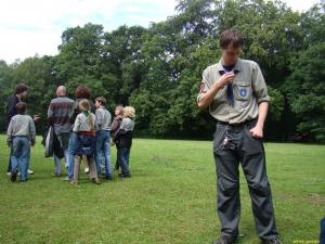
[[[24,102],[16,104],[17,115],[13,116],[8,127],[8,145],[11,146],[11,181],[16,181],[18,168],[22,182],[27,181],[30,145],[35,145],[36,129],[32,118],[26,115],[27,105]]]

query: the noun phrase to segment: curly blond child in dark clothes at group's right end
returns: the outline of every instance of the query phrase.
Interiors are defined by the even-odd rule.
[[[117,150],[119,151],[119,164],[122,169],[121,174],[118,174],[119,177],[131,177],[129,170],[129,159],[132,146],[132,131],[134,129],[134,107],[126,106],[123,108],[123,118],[121,120],[120,127],[114,138],[114,142],[116,143]]]

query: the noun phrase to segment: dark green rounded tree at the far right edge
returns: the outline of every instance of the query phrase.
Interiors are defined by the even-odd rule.
[[[325,42],[299,52],[286,82],[290,107],[301,121],[298,131],[325,141]]]

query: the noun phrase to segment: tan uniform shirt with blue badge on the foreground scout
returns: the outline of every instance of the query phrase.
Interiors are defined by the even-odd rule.
[[[220,73],[224,72],[221,61],[204,70],[197,101],[220,78]],[[261,69],[256,62],[238,59],[234,72],[234,105],[229,103],[226,86],[224,86],[216,94],[209,112],[219,121],[239,124],[257,118],[258,104],[270,102],[270,97]]]

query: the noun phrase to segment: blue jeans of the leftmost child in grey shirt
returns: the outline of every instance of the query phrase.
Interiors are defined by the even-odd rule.
[[[11,171],[21,169],[21,179],[27,180],[30,144],[28,137],[15,137],[12,142]]]

